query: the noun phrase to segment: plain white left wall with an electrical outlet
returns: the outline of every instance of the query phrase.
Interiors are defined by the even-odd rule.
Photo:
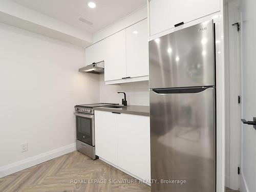
[[[99,101],[99,76],[78,73],[82,48],[1,23],[0,42],[1,170],[74,143],[74,105]]]

